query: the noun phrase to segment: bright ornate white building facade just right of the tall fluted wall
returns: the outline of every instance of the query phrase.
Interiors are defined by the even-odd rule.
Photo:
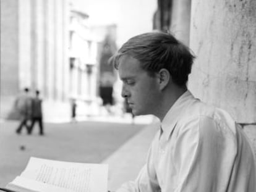
[[[77,104],[77,115],[96,115],[99,108],[96,79],[102,37],[93,33],[88,17],[81,10],[70,9],[69,96]]]

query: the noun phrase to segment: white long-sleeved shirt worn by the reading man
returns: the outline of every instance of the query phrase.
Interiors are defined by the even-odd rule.
[[[186,91],[161,128],[135,182],[125,183],[117,192],[256,191],[252,147],[227,112]]]

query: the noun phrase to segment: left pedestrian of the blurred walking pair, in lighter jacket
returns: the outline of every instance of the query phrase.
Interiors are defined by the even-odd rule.
[[[20,124],[16,129],[16,133],[20,134],[22,128],[25,127],[27,129],[27,133],[29,133],[30,127],[27,122],[31,118],[31,107],[32,107],[32,98],[29,95],[29,89],[24,88],[23,92],[17,97],[15,100],[15,110],[19,112]]]

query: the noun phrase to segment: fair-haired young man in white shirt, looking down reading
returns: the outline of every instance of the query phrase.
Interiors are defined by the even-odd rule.
[[[118,192],[256,191],[254,154],[241,128],[187,90],[194,56],[184,44],[167,33],[145,33],[113,60],[133,114],[161,122],[147,164]]]

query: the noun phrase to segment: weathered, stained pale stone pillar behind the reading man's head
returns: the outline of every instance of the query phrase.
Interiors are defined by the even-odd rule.
[[[190,48],[192,93],[256,122],[256,1],[192,1]]]

